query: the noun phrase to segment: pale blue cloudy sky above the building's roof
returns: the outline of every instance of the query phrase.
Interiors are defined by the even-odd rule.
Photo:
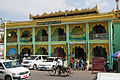
[[[0,0],[0,17],[10,21],[28,21],[29,13],[42,15],[59,10],[81,10],[93,8],[96,4],[101,13],[116,10],[115,0]]]

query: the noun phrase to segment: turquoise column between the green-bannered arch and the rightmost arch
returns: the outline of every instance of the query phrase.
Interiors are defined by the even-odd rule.
[[[89,68],[89,60],[90,60],[90,55],[89,55],[89,27],[88,27],[88,22],[86,23],[86,49],[87,49],[87,58],[88,58],[88,68]]]

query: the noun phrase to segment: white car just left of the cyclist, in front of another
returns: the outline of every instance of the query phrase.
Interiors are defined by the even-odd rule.
[[[43,61],[39,64],[38,70],[50,70],[53,66],[56,66],[57,57],[48,57],[47,61]]]

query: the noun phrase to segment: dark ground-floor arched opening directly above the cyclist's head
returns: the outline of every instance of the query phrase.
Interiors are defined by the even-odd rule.
[[[53,56],[53,57],[61,57],[61,58],[65,59],[66,53],[64,52],[63,48],[57,47],[57,48],[54,49],[54,52],[52,53],[51,56]]]

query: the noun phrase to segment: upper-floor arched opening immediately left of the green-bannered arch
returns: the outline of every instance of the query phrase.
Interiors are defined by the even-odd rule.
[[[64,29],[56,28],[52,34],[52,41],[65,41],[66,40],[66,33]]]

